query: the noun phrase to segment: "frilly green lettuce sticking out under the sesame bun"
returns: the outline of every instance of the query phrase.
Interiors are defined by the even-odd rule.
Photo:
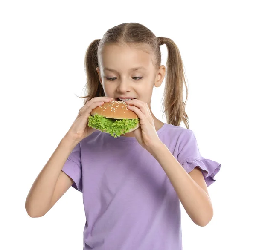
[[[136,119],[111,119],[105,118],[102,115],[90,115],[88,118],[88,126],[99,129],[102,132],[107,132],[113,137],[120,137],[130,129],[135,128],[139,123],[139,118]]]

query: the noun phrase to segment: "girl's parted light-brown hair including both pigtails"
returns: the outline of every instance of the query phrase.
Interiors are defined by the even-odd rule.
[[[98,67],[99,54],[104,45],[147,45],[154,53],[154,63],[156,69],[161,64],[160,46],[165,44],[168,50],[166,60],[166,84],[163,96],[163,106],[166,122],[179,126],[183,121],[189,129],[188,116],[185,112],[188,98],[188,88],[185,81],[183,62],[180,51],[174,41],[166,37],[156,37],[151,30],[140,23],[122,23],[108,29],[102,39],[93,40],[87,48],[84,57],[84,69],[86,71],[87,83],[85,94],[79,98],[84,98],[84,105],[94,97],[105,96],[102,85],[99,82],[99,75],[96,71]],[[186,100],[183,101],[183,83],[186,87]]]

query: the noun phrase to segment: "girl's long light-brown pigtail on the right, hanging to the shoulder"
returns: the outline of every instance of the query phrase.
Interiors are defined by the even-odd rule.
[[[188,115],[185,112],[188,89],[180,51],[172,39],[157,37],[159,45],[166,44],[168,58],[166,61],[166,84],[163,96],[163,106],[168,124],[179,126],[181,121],[189,129]],[[186,100],[183,101],[183,83],[186,87]]]

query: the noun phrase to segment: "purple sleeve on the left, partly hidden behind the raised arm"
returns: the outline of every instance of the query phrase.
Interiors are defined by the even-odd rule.
[[[74,183],[72,184],[72,187],[83,193],[80,142],[70,153],[62,168],[62,171],[73,179]]]

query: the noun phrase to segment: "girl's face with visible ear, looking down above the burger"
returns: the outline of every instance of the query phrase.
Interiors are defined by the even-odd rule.
[[[160,73],[156,71],[151,57],[151,54],[132,46],[105,46],[96,69],[105,95],[114,100],[118,97],[136,98],[150,107],[153,86],[161,85],[165,73],[164,66],[160,67]],[[145,69],[131,70],[136,67]]]

